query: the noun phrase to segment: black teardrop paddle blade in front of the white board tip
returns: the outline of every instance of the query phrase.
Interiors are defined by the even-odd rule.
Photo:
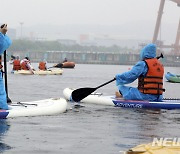
[[[94,92],[97,88],[79,88],[72,92],[72,100],[75,102],[79,102],[92,92]]]

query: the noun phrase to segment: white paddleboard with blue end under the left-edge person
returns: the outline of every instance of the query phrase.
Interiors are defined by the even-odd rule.
[[[17,102],[8,106],[9,110],[0,110],[0,119],[57,115],[66,111],[67,101],[64,98],[50,98],[32,102]]]

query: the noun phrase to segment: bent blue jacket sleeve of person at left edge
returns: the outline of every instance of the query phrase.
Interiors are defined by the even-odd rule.
[[[12,41],[7,35],[4,35],[0,32],[0,54],[2,54],[9,46],[12,44]]]

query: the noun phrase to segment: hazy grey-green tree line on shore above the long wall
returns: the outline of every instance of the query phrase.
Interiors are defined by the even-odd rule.
[[[9,51],[83,51],[83,52],[135,52],[135,49],[113,45],[106,46],[82,46],[79,44],[65,45],[58,41],[30,41],[30,40],[13,40]]]

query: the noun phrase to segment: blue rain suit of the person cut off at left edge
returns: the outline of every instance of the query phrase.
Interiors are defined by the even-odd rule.
[[[9,48],[11,45],[11,40],[7,35],[4,35],[0,32],[0,54],[3,54],[4,51]],[[0,71],[0,108],[8,109],[6,91],[4,86],[4,81],[2,77],[2,72]]]

